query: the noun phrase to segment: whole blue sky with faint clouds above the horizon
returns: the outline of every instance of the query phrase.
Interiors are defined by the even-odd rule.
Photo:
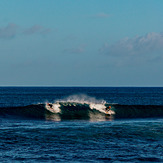
[[[1,0],[0,86],[163,86],[162,0]]]

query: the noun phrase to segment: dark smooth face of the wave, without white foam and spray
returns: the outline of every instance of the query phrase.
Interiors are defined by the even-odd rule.
[[[55,103],[53,104],[55,105]],[[46,120],[66,120],[66,119],[83,119],[83,120],[113,120],[119,118],[155,118],[163,117],[162,105],[120,105],[120,104],[104,104],[105,107],[111,106],[114,112],[107,115],[96,108],[91,108],[89,104],[60,102],[57,113],[47,109],[46,104],[36,104],[21,107],[2,107],[0,108],[0,116],[3,117],[21,117],[32,119]]]

